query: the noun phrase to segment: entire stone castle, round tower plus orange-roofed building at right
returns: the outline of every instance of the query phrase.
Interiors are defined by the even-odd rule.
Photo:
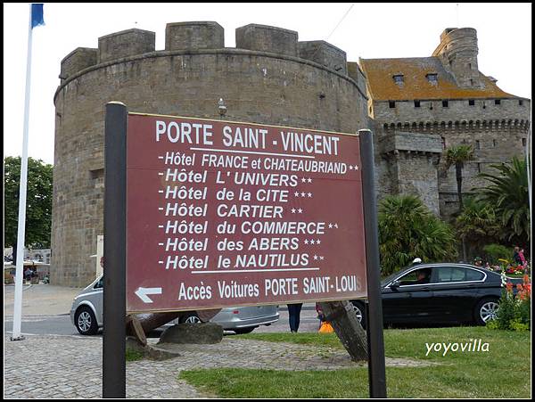
[[[455,209],[455,174],[440,176],[445,146],[475,144],[465,189],[490,162],[522,152],[530,101],[506,94],[477,70],[473,29],[447,29],[432,57],[347,62],[325,41],[300,42],[288,29],[250,24],[225,47],[216,22],[128,29],[77,48],[61,64],[54,94],[55,152],[51,283],[95,278],[103,234],[104,106],[129,111],[375,135],[379,196],[417,193],[435,213]],[[366,81],[367,76],[367,81]],[[417,105],[416,105],[417,103]],[[479,144],[479,145],[477,145]]]

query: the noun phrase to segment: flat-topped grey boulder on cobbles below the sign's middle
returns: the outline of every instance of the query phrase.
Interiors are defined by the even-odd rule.
[[[223,340],[223,327],[215,323],[176,324],[166,329],[160,343],[219,343]]]

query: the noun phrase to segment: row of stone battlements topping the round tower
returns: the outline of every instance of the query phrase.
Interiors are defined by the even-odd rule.
[[[97,48],[78,47],[62,60],[62,84],[81,70],[147,53],[232,50],[225,47],[225,29],[215,21],[171,22],[165,29],[165,49],[155,49],[155,32],[127,29],[98,38]],[[280,54],[315,62],[348,76],[346,53],[323,40],[298,41],[298,33],[268,25],[249,24],[235,29],[235,49]],[[357,79],[355,79],[357,81]]]

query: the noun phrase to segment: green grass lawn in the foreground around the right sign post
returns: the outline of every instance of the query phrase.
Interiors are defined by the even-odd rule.
[[[251,333],[240,338],[294,342],[343,349],[335,334]],[[489,343],[487,352],[429,352],[426,342]],[[429,360],[440,365],[387,367],[390,398],[530,398],[531,332],[485,327],[419,328],[384,331],[387,357]],[[180,373],[200,390],[222,398],[368,398],[367,368],[291,372],[240,368]]]

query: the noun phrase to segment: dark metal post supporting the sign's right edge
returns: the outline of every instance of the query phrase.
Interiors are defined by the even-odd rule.
[[[364,227],[366,232],[366,276],[368,294],[368,379],[371,398],[386,398],[383,342],[383,304],[379,271],[379,238],[374,185],[374,138],[370,130],[358,130],[362,160]]]

